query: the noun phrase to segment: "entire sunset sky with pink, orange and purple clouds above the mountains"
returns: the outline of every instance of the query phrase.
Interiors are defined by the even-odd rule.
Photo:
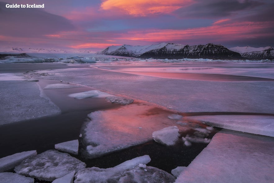
[[[44,8],[7,8],[7,4]],[[274,46],[273,0],[0,0],[0,46]]]

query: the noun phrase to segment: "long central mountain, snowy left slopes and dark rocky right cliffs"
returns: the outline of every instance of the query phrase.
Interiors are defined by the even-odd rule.
[[[159,43],[146,46],[110,46],[101,52],[101,55],[115,55],[140,58],[242,58],[240,53],[231,51],[220,44],[206,44],[189,46],[174,43]]]

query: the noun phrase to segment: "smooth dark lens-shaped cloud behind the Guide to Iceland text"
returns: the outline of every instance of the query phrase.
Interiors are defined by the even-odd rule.
[[[0,34],[13,37],[39,37],[74,30],[69,20],[39,8],[6,8],[0,2]]]

